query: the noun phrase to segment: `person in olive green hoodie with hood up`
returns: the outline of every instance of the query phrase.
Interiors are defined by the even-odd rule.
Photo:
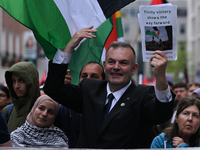
[[[6,119],[11,133],[25,123],[28,113],[40,96],[39,74],[34,64],[18,62],[5,72],[5,79],[13,102],[12,111]],[[4,115],[8,107],[3,109]]]

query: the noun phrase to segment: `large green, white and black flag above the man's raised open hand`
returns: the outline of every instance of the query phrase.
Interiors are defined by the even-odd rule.
[[[52,59],[77,30],[93,25],[97,29],[117,10],[134,0],[1,0],[14,19],[31,29]],[[104,38],[106,40],[106,38]]]

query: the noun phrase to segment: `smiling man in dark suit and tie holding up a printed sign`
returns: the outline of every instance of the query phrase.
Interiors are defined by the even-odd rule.
[[[65,73],[73,49],[83,38],[95,38],[92,27],[77,31],[63,51],[58,50],[44,91],[62,105],[82,114],[78,147],[81,148],[145,148],[153,124],[172,116],[174,94],[165,76],[167,58],[162,51],[151,57],[156,85],[134,85],[137,71],[134,49],[127,43],[114,42],[106,52],[104,72],[107,81],[83,79],[79,86],[64,84]],[[114,98],[110,99],[110,94]],[[107,107],[111,104],[111,107]],[[108,108],[105,116],[104,109]]]

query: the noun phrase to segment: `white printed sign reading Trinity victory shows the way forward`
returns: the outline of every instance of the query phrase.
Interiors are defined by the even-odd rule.
[[[176,60],[177,6],[172,4],[140,6],[138,19],[143,61],[149,62],[155,50],[163,51],[168,60]]]

